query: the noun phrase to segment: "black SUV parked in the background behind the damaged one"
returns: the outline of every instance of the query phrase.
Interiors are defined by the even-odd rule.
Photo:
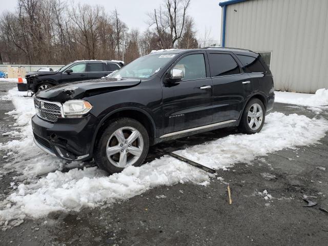
[[[101,78],[123,66],[119,60],[76,60],[57,71],[30,72],[25,78],[27,89],[37,92],[63,83]]]

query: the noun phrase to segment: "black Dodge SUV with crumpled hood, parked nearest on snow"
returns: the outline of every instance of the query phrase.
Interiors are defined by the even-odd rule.
[[[274,97],[272,74],[252,51],[156,52],[106,78],[39,91],[34,141],[54,156],[94,158],[120,172],[161,141],[223,127],[257,133]]]

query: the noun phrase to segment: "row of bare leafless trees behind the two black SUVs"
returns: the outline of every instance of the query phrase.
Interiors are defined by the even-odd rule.
[[[67,0],[16,0],[0,16],[0,63],[67,64],[76,59],[122,59],[152,50],[195,45],[190,0],[165,0],[151,15],[152,27],[129,31],[114,10],[72,5]]]

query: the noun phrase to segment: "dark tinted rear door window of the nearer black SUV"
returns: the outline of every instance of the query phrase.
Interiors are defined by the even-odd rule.
[[[230,54],[210,53],[209,61],[212,77],[240,73],[238,64]]]

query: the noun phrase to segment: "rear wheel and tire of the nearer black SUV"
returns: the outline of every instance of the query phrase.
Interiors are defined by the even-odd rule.
[[[256,115],[253,114],[255,108]],[[264,125],[264,120],[265,108],[262,101],[258,98],[252,98],[242,112],[238,130],[245,134],[254,134],[260,132]]]

